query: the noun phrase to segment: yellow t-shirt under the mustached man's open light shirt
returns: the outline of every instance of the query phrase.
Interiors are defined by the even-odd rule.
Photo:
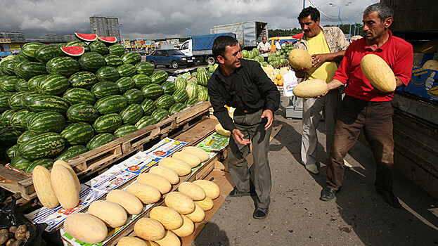
[[[330,53],[330,48],[328,48],[326,37],[324,37],[322,30],[315,37],[307,37],[307,48],[311,55]],[[307,72],[307,77],[309,79],[322,79],[326,82],[330,82],[336,70],[337,65],[335,62],[326,62],[317,67],[311,67],[309,72]]]

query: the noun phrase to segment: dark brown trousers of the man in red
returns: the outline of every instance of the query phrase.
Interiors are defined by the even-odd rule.
[[[345,96],[337,114],[335,136],[328,157],[327,187],[338,190],[344,179],[344,157],[363,130],[370,143],[377,170],[376,190],[392,191],[394,181],[394,139],[391,102],[368,102]]]

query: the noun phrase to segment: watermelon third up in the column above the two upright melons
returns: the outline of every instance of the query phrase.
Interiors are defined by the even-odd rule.
[[[27,128],[32,134],[44,134],[46,132],[60,133],[65,127],[65,119],[59,112],[38,112],[29,119]]]

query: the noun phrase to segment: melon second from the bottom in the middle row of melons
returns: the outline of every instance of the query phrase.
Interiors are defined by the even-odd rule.
[[[136,236],[144,240],[160,240],[165,237],[165,231],[159,221],[150,218],[141,218],[134,225]]]

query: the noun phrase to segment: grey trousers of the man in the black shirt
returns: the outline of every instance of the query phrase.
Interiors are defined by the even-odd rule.
[[[269,169],[268,150],[269,136],[272,127],[264,130],[266,118],[262,119],[262,110],[247,114],[241,110],[234,111],[234,124],[244,138],[252,142],[254,157],[254,186],[257,194],[256,206],[269,206],[271,193],[271,169]],[[228,145],[228,169],[239,193],[250,192],[250,171],[245,157],[250,153],[250,145],[241,145],[231,134]]]

